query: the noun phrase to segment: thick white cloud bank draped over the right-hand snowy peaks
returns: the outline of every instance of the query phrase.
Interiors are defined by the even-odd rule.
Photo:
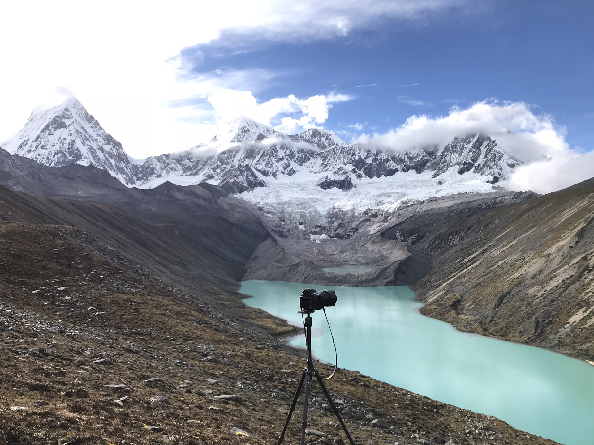
[[[502,183],[508,189],[549,193],[594,176],[594,153],[571,150],[565,129],[523,102],[482,101],[467,109],[454,107],[447,116],[412,116],[385,134],[363,134],[356,141],[406,150],[443,146],[456,136],[476,132],[494,136],[501,150],[525,164]]]

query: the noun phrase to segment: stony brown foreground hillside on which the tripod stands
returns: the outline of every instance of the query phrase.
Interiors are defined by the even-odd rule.
[[[0,443],[277,443],[305,363],[277,338],[293,328],[170,289],[75,228],[0,222]],[[357,443],[554,443],[355,371],[327,386]],[[343,443],[312,392],[308,443]]]

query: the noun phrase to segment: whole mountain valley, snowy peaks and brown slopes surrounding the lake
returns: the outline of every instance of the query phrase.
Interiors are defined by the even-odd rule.
[[[242,119],[137,161],[71,98],[0,147],[7,443],[275,443],[303,354],[244,279],[410,285],[457,329],[594,362],[594,182],[505,190],[493,135],[379,150]],[[356,371],[328,386],[361,443],[553,443]],[[342,443],[318,402],[312,441]]]

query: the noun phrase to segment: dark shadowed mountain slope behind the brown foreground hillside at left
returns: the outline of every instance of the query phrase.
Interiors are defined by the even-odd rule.
[[[214,287],[219,291],[236,287],[245,263],[266,234],[257,221],[237,224],[213,205],[201,212],[194,206],[189,218],[171,209],[169,214],[149,212],[140,204],[137,201],[138,213],[152,219],[152,224],[113,205],[30,196],[0,187],[0,218],[72,225],[177,286],[209,292],[215,292]],[[158,201],[153,207],[157,205]]]

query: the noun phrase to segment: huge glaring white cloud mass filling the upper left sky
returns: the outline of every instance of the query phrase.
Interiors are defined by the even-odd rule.
[[[129,154],[143,158],[181,150],[207,138],[212,128],[203,123],[210,122],[206,110],[189,113],[187,107],[169,107],[171,101],[206,97],[217,88],[253,93],[258,82],[276,75],[251,70],[182,79],[177,56],[183,48],[211,42],[224,33],[277,42],[330,39],[380,19],[425,20],[465,4],[462,0],[2,2],[0,141],[17,132],[32,109],[53,106],[74,91]],[[247,106],[249,97],[241,97]],[[329,107],[324,100],[306,100],[308,122],[325,119]]]

